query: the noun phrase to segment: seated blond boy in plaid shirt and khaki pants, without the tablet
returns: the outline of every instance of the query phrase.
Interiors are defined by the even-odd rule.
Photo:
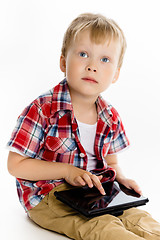
[[[101,176],[90,170],[107,166],[116,170],[118,182],[141,194],[118,165],[116,153],[129,145],[121,119],[100,96],[118,80],[125,48],[113,20],[96,14],[76,18],[60,57],[66,78],[25,108],[8,143],[8,169],[28,216],[73,239],[160,239],[160,224],[144,211],[89,220],[54,197],[56,190],[84,185],[105,194]]]

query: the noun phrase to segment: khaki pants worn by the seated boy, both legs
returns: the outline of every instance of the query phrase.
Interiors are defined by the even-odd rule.
[[[119,217],[106,214],[88,219],[55,198],[54,191],[68,188],[68,184],[54,188],[29,211],[29,217],[45,229],[77,240],[160,240],[160,224],[147,212],[131,208]]]

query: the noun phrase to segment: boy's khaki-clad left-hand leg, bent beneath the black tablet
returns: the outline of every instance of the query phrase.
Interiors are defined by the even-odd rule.
[[[67,184],[56,187],[64,190]],[[54,197],[53,189],[40,204],[29,211],[30,218],[43,228],[77,240],[143,240],[125,229],[122,221],[112,215],[88,219]]]

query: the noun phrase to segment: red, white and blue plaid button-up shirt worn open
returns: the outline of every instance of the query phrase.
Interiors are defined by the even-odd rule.
[[[96,105],[98,122],[94,150],[97,168],[105,168],[104,156],[119,152],[129,142],[117,111],[101,96]],[[63,162],[86,169],[87,154],[80,143],[66,79],[25,108],[8,146],[31,158]],[[64,180],[27,181],[17,178],[16,182],[20,202],[28,211]]]

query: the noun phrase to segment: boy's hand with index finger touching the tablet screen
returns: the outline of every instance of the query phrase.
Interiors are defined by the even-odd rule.
[[[104,188],[102,187],[102,184],[100,182],[102,176],[96,176],[83,169],[74,167],[73,165],[68,165],[66,176],[64,177],[64,179],[72,186],[88,185],[90,188],[95,186],[102,195],[105,195]]]

